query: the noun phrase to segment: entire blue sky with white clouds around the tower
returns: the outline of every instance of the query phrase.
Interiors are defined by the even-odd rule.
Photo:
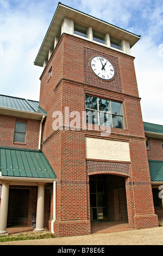
[[[62,4],[141,35],[131,48],[143,121],[163,125],[163,0],[62,0]],[[39,101],[37,52],[56,0],[0,0],[0,94]]]

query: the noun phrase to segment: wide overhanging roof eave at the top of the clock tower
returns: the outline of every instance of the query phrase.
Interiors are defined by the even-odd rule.
[[[112,36],[118,36],[118,38],[127,40],[129,41],[130,48],[133,47],[141,37],[140,35],[128,32],[122,28],[111,25],[108,22],[99,20],[96,17],[82,13],[81,11],[68,7],[67,5],[59,2],[45,38],[41,44],[40,50],[37,53],[34,65],[43,66],[43,61],[46,59],[49,48],[52,46],[54,37],[57,36],[62,21],[64,21],[65,17],[78,23],[82,23],[83,25],[96,28],[98,31],[103,31],[111,34]]]

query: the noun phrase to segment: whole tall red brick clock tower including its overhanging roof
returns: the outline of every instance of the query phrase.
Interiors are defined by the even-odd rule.
[[[158,226],[130,53],[139,39],[59,3],[42,42],[34,64],[43,66],[42,151],[57,175],[57,235],[90,234],[102,221]]]

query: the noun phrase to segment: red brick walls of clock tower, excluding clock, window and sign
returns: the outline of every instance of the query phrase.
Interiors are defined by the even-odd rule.
[[[97,54],[111,58],[116,69],[115,80],[104,82],[92,74],[89,58]],[[48,81],[51,67],[52,77]],[[55,233],[62,236],[90,234],[89,175],[93,172],[90,173],[86,166],[85,137],[101,138],[101,133],[95,130],[54,131],[52,116],[54,111],[61,111],[64,116],[65,107],[69,107],[70,112],[78,111],[82,117],[85,94],[123,102],[124,129],[112,128],[111,135],[103,138],[129,142],[131,161],[123,163],[123,172],[121,163],[115,162],[116,167],[111,174],[124,177],[123,192],[126,188],[125,207],[129,226],[156,227],[158,216],[153,206],[134,58],[64,34],[43,71],[40,90],[40,107],[48,114],[43,130],[42,150],[57,174]],[[96,161],[98,173],[109,175],[113,162],[104,164],[104,169],[101,169],[101,162]],[[117,191],[115,193],[118,194]],[[124,215],[127,216],[127,212]],[[119,215],[112,218],[120,220],[126,217],[120,218]]]

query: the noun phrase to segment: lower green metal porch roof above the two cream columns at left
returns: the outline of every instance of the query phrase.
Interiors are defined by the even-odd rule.
[[[56,179],[42,151],[0,147],[2,176]]]

